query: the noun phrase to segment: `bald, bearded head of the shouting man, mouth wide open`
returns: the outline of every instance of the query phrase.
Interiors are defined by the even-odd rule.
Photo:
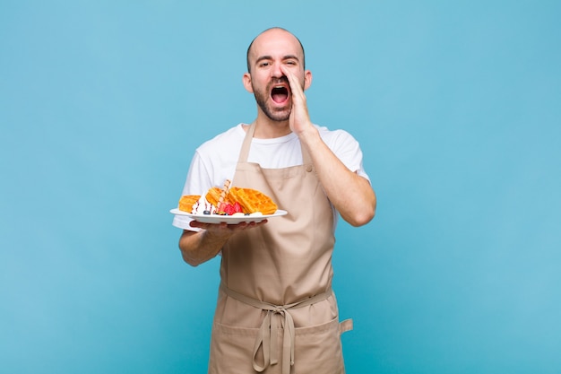
[[[251,72],[245,81],[250,83],[257,105],[273,121],[286,121],[292,109],[292,97],[287,77],[280,65],[293,69],[300,78],[302,89],[307,88],[304,54],[298,39],[285,30],[268,30],[258,36],[249,54]]]

